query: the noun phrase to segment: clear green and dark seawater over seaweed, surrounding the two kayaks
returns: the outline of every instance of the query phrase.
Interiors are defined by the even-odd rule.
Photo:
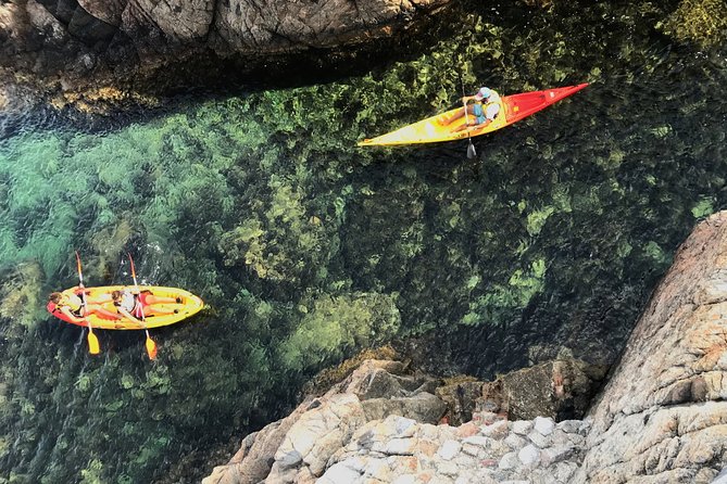
[[[196,482],[321,368],[391,341],[487,378],[611,362],[677,245],[725,207],[724,40],[664,34],[678,4],[463,4],[421,51],[336,81],[179,99],[0,145],[0,483]],[[672,15],[672,17],[669,17]],[[443,34],[442,34],[443,35]],[[449,107],[591,82],[466,142],[355,141]],[[65,126],[65,127],[64,127]],[[200,295],[143,336],[43,313],[76,282]]]

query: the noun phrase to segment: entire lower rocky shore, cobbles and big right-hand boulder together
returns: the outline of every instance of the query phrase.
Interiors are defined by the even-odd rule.
[[[203,483],[710,483],[727,467],[726,321],[722,212],[677,252],[585,418],[559,418],[552,405],[582,402],[598,383],[575,385],[563,371],[574,362],[447,385],[369,359],[248,435]],[[528,393],[535,405],[517,407]],[[551,415],[513,418],[527,408]]]

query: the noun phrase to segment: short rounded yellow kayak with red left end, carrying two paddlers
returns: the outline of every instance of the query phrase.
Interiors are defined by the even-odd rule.
[[[125,289],[136,292],[136,288],[129,285],[103,285],[99,288],[86,288],[86,302],[87,304],[100,305],[108,311],[115,314],[116,307],[114,306],[111,298],[111,293],[116,290],[121,291]],[[175,300],[179,298],[180,303],[154,304],[154,307],[166,309],[168,311],[176,309],[177,313],[170,315],[147,315],[145,318],[146,323],[143,326],[127,319],[110,320],[99,317],[96,314],[91,314],[87,316],[91,327],[103,330],[143,330],[159,328],[162,326],[174,324],[175,322],[179,322],[183,319],[189,318],[190,316],[199,313],[202,307],[204,307],[204,303],[201,298],[188,291],[185,291],[184,289],[164,288],[159,285],[139,285],[138,289],[139,292],[150,291],[151,294],[158,297],[172,297]],[[77,288],[71,288],[66,289],[62,293],[66,296],[71,296],[77,291]],[[63,313],[55,309],[55,305],[53,303],[48,303],[47,309],[51,315],[71,324],[77,324],[80,327],[88,326],[87,322],[77,323],[68,320]],[[162,313],[165,313],[166,310],[163,310]]]

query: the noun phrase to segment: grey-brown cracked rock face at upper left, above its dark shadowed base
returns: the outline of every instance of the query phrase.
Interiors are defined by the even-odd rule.
[[[195,66],[222,59],[234,61],[229,76],[270,68],[275,54],[391,36],[449,1],[13,0],[0,3],[0,80],[65,92],[145,78],[165,86],[172,72],[185,84]]]

